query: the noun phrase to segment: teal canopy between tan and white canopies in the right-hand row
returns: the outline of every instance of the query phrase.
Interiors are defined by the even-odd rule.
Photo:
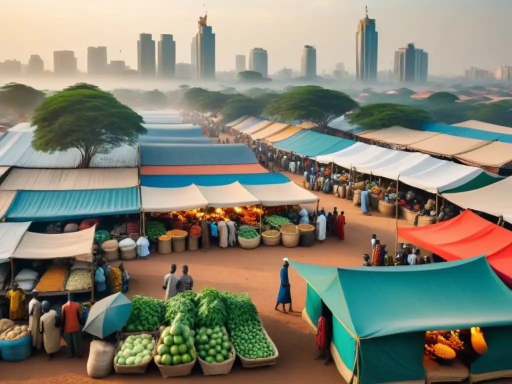
[[[273,146],[283,151],[315,157],[341,151],[354,143],[355,141],[352,140],[304,130],[287,139],[273,143]]]

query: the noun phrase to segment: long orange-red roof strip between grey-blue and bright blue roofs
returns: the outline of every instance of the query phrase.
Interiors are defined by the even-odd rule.
[[[141,175],[245,175],[266,174],[260,164],[230,165],[141,165]]]

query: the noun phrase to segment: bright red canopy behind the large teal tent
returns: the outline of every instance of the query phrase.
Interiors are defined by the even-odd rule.
[[[500,278],[512,287],[512,232],[466,209],[441,223],[398,228],[398,236],[429,250],[446,261],[485,254]]]

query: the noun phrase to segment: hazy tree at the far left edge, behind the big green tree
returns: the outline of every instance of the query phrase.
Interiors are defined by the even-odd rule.
[[[0,87],[0,105],[13,112],[20,122],[29,120],[36,106],[45,97],[44,92],[17,82]]]

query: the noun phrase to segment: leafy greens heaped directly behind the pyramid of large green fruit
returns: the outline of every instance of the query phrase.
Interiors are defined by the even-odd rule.
[[[197,317],[199,295],[193,291],[183,291],[167,300],[165,303],[166,324],[182,324],[194,329]]]

